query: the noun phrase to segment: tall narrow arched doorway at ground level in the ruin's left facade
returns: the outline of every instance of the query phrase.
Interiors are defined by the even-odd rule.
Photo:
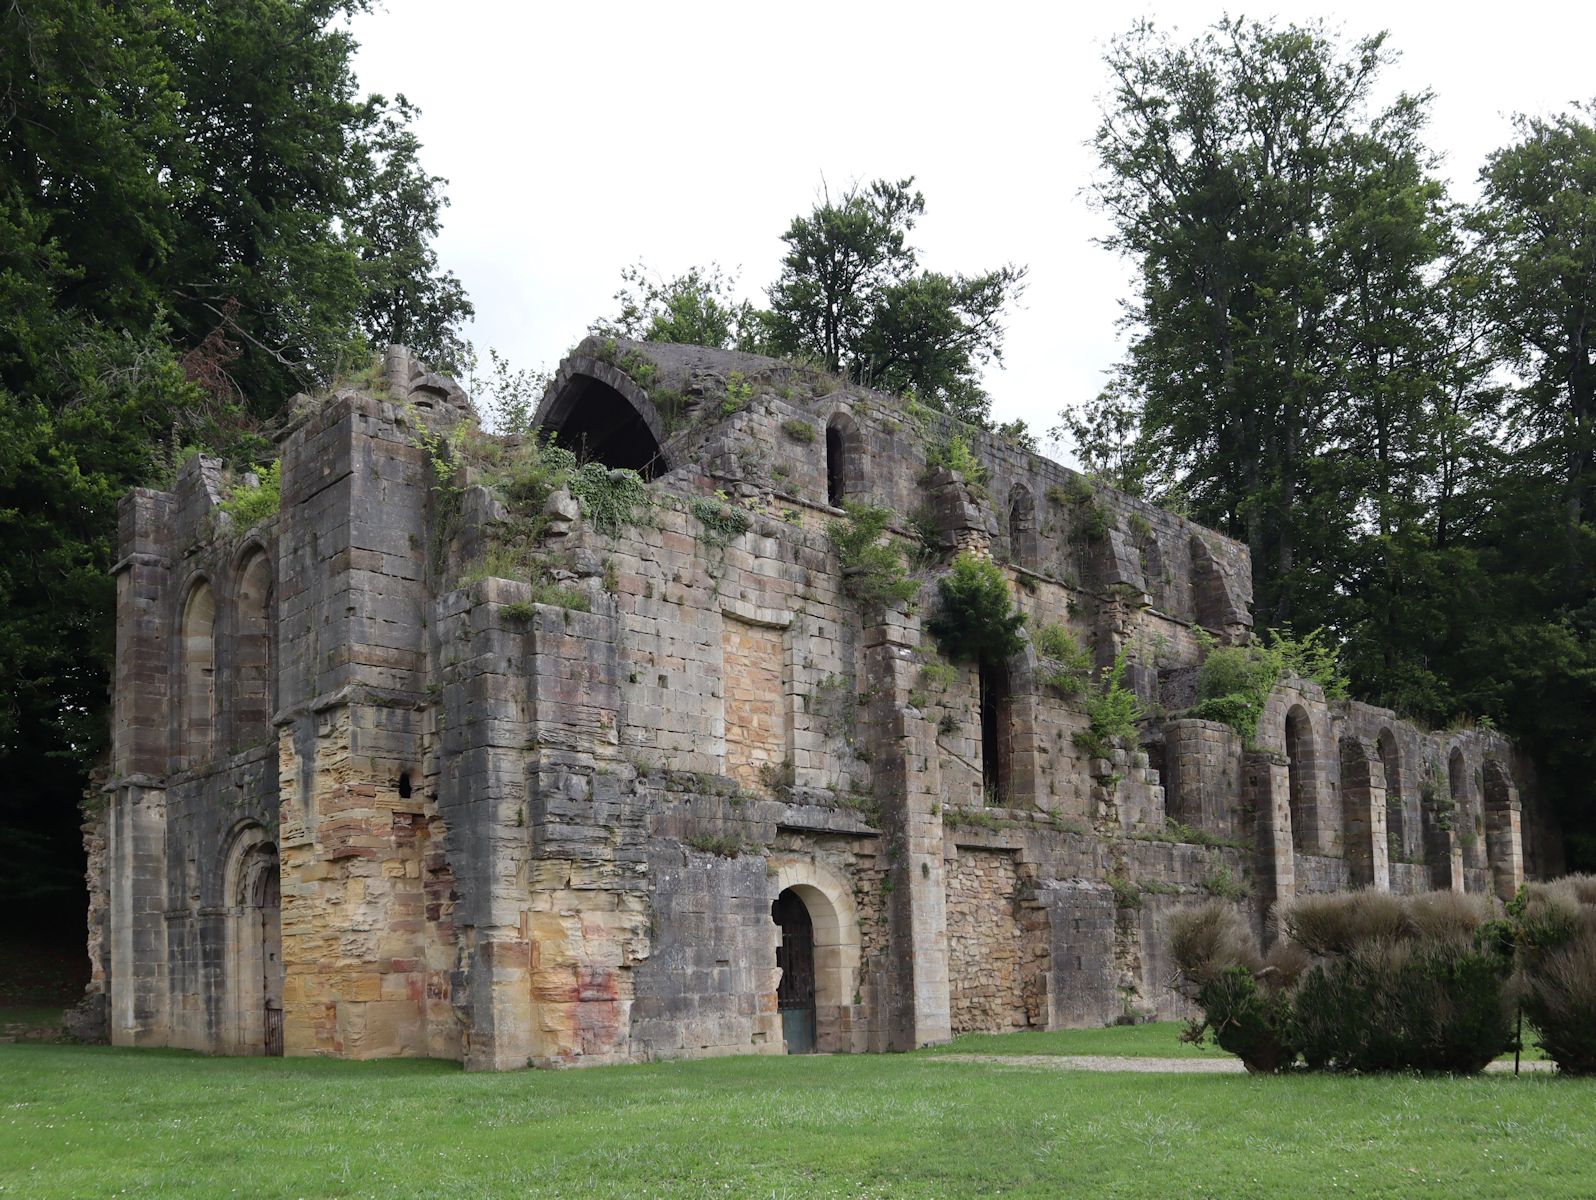
[[[222,1044],[235,1055],[282,1053],[282,882],[260,825],[233,835],[223,876],[227,1005]]]

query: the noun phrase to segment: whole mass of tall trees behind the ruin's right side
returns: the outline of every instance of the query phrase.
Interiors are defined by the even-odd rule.
[[[1063,426],[1243,538],[1261,622],[1334,630],[1357,694],[1519,736],[1591,863],[1596,131],[1521,120],[1465,209],[1389,61],[1321,24],[1111,45],[1093,195],[1138,286]]]

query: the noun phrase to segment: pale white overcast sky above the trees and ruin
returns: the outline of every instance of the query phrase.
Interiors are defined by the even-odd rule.
[[[439,257],[477,306],[469,337],[547,367],[614,310],[621,268],[718,262],[761,300],[822,177],[915,176],[921,262],[1026,263],[1001,420],[1045,431],[1120,354],[1130,263],[1082,191],[1101,53],[1138,14],[1194,35],[1213,3],[488,3],[388,0],[354,22],[369,91],[405,93],[448,179]],[[1515,112],[1596,96],[1596,5],[1280,3],[1229,11],[1345,35],[1389,29],[1387,88],[1432,89],[1430,144],[1475,195]]]

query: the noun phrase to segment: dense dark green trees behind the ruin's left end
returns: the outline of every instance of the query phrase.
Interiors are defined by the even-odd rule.
[[[81,894],[118,498],[185,447],[263,455],[290,394],[389,338],[463,357],[442,180],[413,107],[356,88],[361,8],[0,11],[0,839],[45,847],[0,889]]]

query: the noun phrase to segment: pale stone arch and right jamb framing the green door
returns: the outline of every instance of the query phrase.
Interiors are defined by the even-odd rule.
[[[812,951],[814,1048],[843,1053],[855,1048],[855,1015],[859,994],[859,916],[847,884],[812,862],[772,860],[772,910],[785,902],[800,902],[809,918]],[[780,945],[780,932],[772,911],[772,941]],[[796,926],[801,927],[801,919]],[[784,956],[785,957],[785,956]],[[804,983],[808,986],[808,983]],[[780,988],[777,985],[779,994]],[[796,997],[795,997],[796,999]],[[862,1032],[862,1031],[859,1031]]]

